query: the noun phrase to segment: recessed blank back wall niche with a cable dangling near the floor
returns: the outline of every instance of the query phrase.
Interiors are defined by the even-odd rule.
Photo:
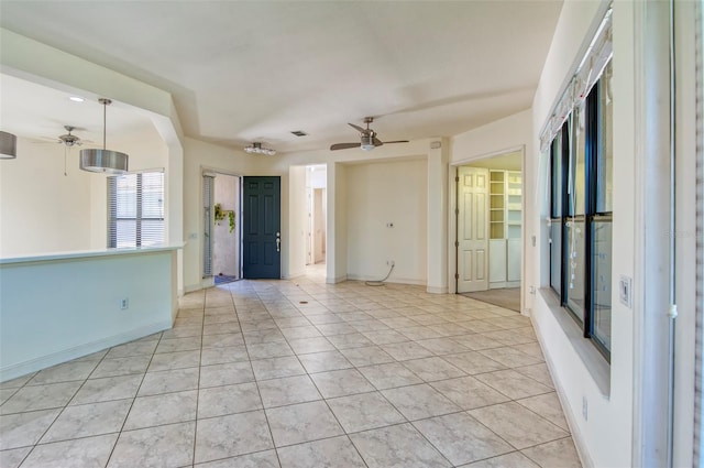
[[[426,284],[427,161],[346,167],[348,277]],[[394,227],[386,225],[393,222]]]

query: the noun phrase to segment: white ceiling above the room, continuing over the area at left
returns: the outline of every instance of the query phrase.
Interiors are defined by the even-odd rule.
[[[414,140],[529,108],[561,8],[557,0],[2,0],[0,26],[172,92],[189,137],[286,152],[359,141],[346,122],[362,126],[365,116],[376,118],[381,140]],[[101,139],[96,102],[80,110],[59,95],[28,116],[31,106],[8,96],[30,85],[7,75],[1,85],[4,130],[31,127],[26,120],[43,126],[35,135],[54,137],[64,124],[88,126]],[[142,123],[108,108],[108,135]]]

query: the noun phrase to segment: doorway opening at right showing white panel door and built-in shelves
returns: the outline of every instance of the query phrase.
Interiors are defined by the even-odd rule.
[[[520,312],[522,151],[458,167],[457,292]]]

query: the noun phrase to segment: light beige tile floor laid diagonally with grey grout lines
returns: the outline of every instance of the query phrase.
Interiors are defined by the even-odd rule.
[[[319,275],[188,294],[0,403],[3,468],[580,467],[528,318]]]

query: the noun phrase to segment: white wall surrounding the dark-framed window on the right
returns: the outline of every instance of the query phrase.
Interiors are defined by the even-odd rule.
[[[539,133],[562,91],[571,70],[581,58],[585,45],[594,34],[606,2],[565,2],[558,22],[552,46],[543,68],[534,101],[534,133],[531,148],[539,154]],[[614,2],[614,259],[612,284],[619,274],[634,274],[634,130],[632,116],[632,4]],[[546,179],[536,171],[539,157],[527,159],[524,174],[526,198],[530,199],[530,187],[544,186]],[[526,206],[526,229],[538,235],[535,253],[528,260],[527,275],[540,285],[549,287],[544,259],[548,255],[547,226],[542,219],[547,214],[547,200],[541,193],[532,194],[538,206]],[[542,217],[541,217],[542,215]],[[541,270],[542,265],[542,270]],[[613,291],[617,291],[613,287]],[[562,398],[565,416],[583,455],[586,466],[631,466],[632,405],[634,405],[634,355],[632,312],[612,297],[612,363],[606,376],[598,374],[602,359],[587,341],[582,339],[570,319],[564,323],[559,306],[550,302],[551,292],[536,296],[531,316],[543,346],[546,358],[553,371],[556,385]],[[591,355],[590,352],[591,351]],[[596,356],[594,356],[596,353]],[[590,371],[591,370],[591,371]],[[588,416],[583,416],[586,402]]]

